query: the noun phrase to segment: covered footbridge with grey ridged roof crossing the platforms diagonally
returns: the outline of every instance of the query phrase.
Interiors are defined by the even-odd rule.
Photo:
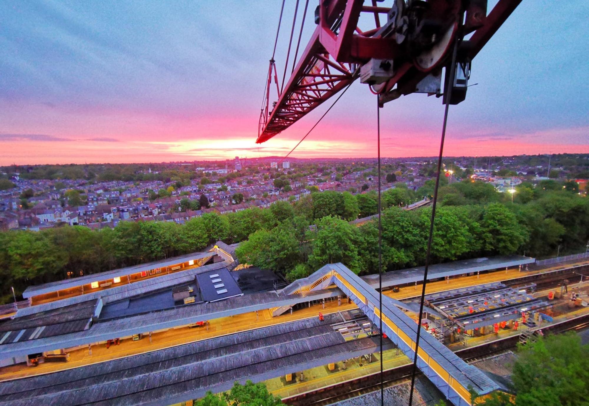
[[[289,294],[323,289],[336,285],[366,316],[379,324],[382,330],[403,353],[413,359],[417,338],[417,323],[403,312],[405,304],[382,296],[382,314],[379,311],[379,294],[350,269],[341,263],[328,264],[307,278],[299,279],[284,288]],[[456,406],[471,405],[469,389],[488,394],[499,386],[478,368],[466,364],[449,348],[428,332],[422,330],[419,340],[417,366],[423,374]]]

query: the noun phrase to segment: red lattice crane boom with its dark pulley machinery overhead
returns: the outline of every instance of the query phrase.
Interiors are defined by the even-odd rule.
[[[370,6],[364,0],[320,0],[317,28],[272,111],[268,99],[277,75],[270,61],[256,142],[284,131],[358,77],[379,94],[381,104],[413,92],[442,95],[441,71],[454,41],[460,41],[462,69],[456,71],[462,71],[464,83],[445,78],[445,85],[462,84],[462,93],[454,92],[457,99],[448,102],[462,101],[472,58],[520,2],[499,0],[487,15],[487,0],[393,0],[390,7],[377,6],[376,0]],[[365,31],[358,26],[363,13],[374,16]],[[386,19],[382,25],[381,17]]]

